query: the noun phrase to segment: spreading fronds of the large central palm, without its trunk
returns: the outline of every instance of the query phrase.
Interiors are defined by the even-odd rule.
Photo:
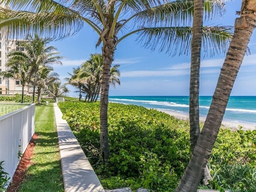
[[[177,50],[173,47],[179,44],[179,54],[190,51],[187,45],[191,41],[191,30],[186,27],[190,26],[193,19],[193,0],[164,3],[159,0],[1,0],[1,2],[11,6],[15,11],[0,8],[0,27],[17,37],[34,32],[55,39],[65,38],[74,35],[86,23],[100,36],[96,47],[101,41],[105,43],[107,38],[114,38],[116,41],[114,47],[116,47],[123,38],[138,33],[140,35],[138,40],[150,39],[145,40],[144,45],[153,50],[157,46],[160,51],[166,50],[170,54],[176,54]],[[219,0],[205,1],[205,18],[221,16],[224,12],[223,5],[223,1]],[[225,51],[232,35],[231,28],[213,27],[209,30],[210,28],[204,30],[205,52]],[[157,42],[153,39],[162,39],[162,41]],[[209,46],[213,49],[209,49]]]

